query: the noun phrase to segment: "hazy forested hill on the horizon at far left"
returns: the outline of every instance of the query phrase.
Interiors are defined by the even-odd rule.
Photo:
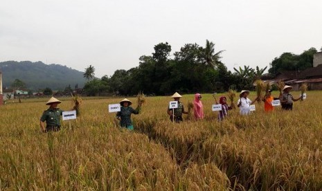
[[[84,87],[85,79],[83,72],[62,66],[60,64],[44,64],[43,62],[0,62],[2,71],[3,89],[10,87],[15,79],[26,83],[28,89],[44,89],[49,87],[53,90],[64,89],[71,85]]]

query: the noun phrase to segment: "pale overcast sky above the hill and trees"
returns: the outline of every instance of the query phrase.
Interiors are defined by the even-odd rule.
[[[222,62],[264,68],[322,47],[322,1],[1,0],[0,62],[42,61],[95,75],[138,66],[154,46],[215,43]]]

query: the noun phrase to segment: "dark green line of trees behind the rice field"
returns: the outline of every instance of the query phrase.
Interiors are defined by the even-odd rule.
[[[135,95],[143,91],[152,95],[166,95],[175,91],[181,93],[195,92],[224,92],[228,89],[253,89],[253,81],[261,78],[267,67],[252,69],[249,66],[234,68],[228,71],[221,62],[223,51],[215,52],[215,44],[206,40],[205,46],[185,44],[170,56],[170,44],[159,43],[154,46],[152,55],[143,55],[139,58],[138,66],[129,69],[119,69],[110,77],[105,75],[98,79],[94,77],[93,66],[87,67],[84,78],[84,92],[88,96],[100,93],[115,93],[116,95]],[[306,69],[312,66],[315,48],[310,48],[301,55],[294,55],[297,69]],[[271,63],[269,73],[292,70],[285,54],[276,57]]]

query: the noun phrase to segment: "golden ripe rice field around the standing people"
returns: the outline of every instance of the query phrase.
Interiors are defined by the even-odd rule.
[[[39,128],[48,99],[8,102],[0,107],[0,190],[322,190],[320,95],[307,92],[293,111],[266,113],[256,103],[251,116],[236,109],[218,122],[204,94],[205,119],[180,124],[166,113],[170,97],[145,97],[134,131],[108,112],[123,98],[83,98],[78,119],[48,134]],[[181,98],[186,110],[193,98]],[[73,107],[59,99],[61,109]]]

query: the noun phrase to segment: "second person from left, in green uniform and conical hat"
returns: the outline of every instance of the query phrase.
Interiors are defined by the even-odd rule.
[[[139,104],[136,109],[133,109],[130,107],[132,102],[130,100],[127,100],[126,98],[122,101],[120,101],[120,111],[116,113],[116,118],[120,120],[120,127],[125,127],[129,130],[133,130],[133,124],[131,120],[131,115],[138,114],[141,111],[141,105]]]

